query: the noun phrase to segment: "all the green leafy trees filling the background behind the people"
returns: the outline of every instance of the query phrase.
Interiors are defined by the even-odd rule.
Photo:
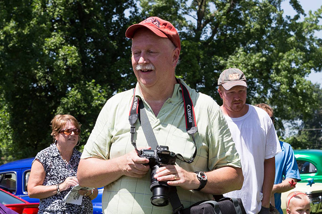
[[[289,0],[298,14],[284,17],[281,1],[0,1],[1,157],[32,157],[47,147],[57,113],[80,121],[83,145],[105,101],[136,83],[125,31],[149,16],[179,31],[176,75],[192,88],[221,104],[219,74],[239,67],[247,102],[273,107],[281,135],[284,122],[321,127],[321,89],[305,77],[322,69],[322,39],[315,36],[322,8],[304,17],[298,0]],[[321,133],[311,133],[289,141],[319,145]]]

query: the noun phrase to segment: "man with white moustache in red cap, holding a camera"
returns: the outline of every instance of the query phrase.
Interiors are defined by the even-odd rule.
[[[168,21],[149,17],[130,26],[126,37],[132,39],[138,82],[101,110],[80,160],[80,185],[105,186],[104,214],[171,214],[166,190],[170,186],[176,187],[185,208],[212,199],[213,194],[240,189],[241,163],[220,107],[175,77],[181,50],[176,29]],[[141,120],[133,122],[137,111]],[[148,124],[144,114],[152,129],[149,134],[142,127]],[[150,159],[150,165],[149,159],[140,157],[143,152],[156,157],[157,150],[149,146],[153,138],[176,154],[175,163],[164,163],[170,158],[163,152]],[[161,162],[158,167],[153,160]],[[152,193],[155,184],[165,191]]]

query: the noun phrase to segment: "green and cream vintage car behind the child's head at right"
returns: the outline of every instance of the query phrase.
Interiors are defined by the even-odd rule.
[[[299,166],[301,181],[296,188],[282,193],[282,210],[286,214],[286,197],[290,192],[305,192],[311,200],[311,214],[322,214],[322,150],[294,150]],[[310,186],[309,181],[314,179]]]

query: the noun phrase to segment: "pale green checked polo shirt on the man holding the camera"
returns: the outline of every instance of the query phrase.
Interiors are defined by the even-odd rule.
[[[197,93],[188,87],[194,105],[198,132],[195,134],[197,155],[188,164],[176,160],[176,164],[187,171],[210,171],[223,166],[241,167],[239,154],[235,149],[227,122],[218,104],[209,96]],[[142,98],[136,85],[135,96]],[[116,94],[109,99],[98,115],[81,158],[103,160],[123,156],[134,150],[131,144],[129,112],[133,89]],[[190,160],[195,144],[186,132],[182,91],[179,84],[173,95],[155,116],[144,100],[144,105],[159,145],[168,146],[171,152],[181,154]],[[135,140],[138,148],[148,147],[139,121],[136,123]],[[185,208],[201,201],[212,199],[212,195],[177,187],[178,196]],[[155,207],[150,198],[150,173],[143,178],[122,176],[104,187],[102,209],[104,214],[171,214],[171,205]]]

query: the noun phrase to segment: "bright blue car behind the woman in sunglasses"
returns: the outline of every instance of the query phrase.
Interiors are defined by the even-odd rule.
[[[0,188],[30,203],[39,203],[39,199],[29,198],[27,183],[31,163],[34,158],[16,160],[0,165]],[[93,214],[102,213],[103,188],[98,189],[97,197],[92,200]]]

